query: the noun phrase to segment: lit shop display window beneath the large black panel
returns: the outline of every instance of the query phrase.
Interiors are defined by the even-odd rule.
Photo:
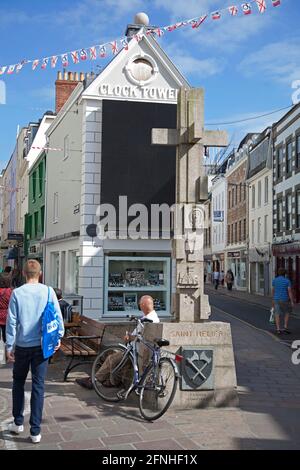
[[[104,316],[126,317],[139,313],[139,300],[149,294],[160,317],[170,316],[170,258],[105,258]]]

